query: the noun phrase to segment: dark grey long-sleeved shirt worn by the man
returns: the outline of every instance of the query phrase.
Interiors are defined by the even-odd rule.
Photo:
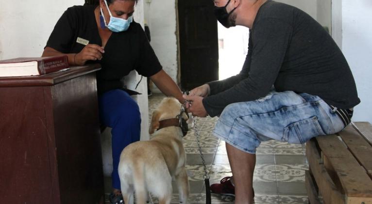
[[[349,65],[328,32],[300,9],[271,0],[254,20],[240,73],[208,84],[203,105],[212,117],[231,103],[267,95],[273,85],[318,95],[340,109],[360,103]]]

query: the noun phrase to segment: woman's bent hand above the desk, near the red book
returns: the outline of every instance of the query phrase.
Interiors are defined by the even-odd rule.
[[[88,60],[101,60],[102,53],[104,53],[103,47],[95,44],[88,44],[81,52],[74,56],[74,62],[76,65],[84,65]]]

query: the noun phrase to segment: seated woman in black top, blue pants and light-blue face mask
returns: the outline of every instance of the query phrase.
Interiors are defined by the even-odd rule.
[[[100,63],[97,72],[101,123],[112,127],[114,191],[120,202],[118,163],[121,151],[140,139],[140,112],[123,77],[132,70],[150,77],[166,95],[183,102],[176,83],[162,69],[141,25],[133,19],[137,0],[99,0],[98,5],[73,6],[58,20],[43,56],[67,54],[71,65]]]

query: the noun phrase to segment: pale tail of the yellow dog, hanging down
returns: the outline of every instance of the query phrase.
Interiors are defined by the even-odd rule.
[[[148,192],[145,182],[145,163],[137,161],[134,165],[134,169],[137,170],[133,172],[136,203],[146,204]]]

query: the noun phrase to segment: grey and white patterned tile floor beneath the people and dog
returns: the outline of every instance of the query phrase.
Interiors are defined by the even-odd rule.
[[[164,95],[149,97],[149,118]],[[197,118],[202,152],[210,175],[210,183],[231,175],[225,142],[216,138],[212,130],[215,118]],[[190,128],[184,138],[187,153],[187,173],[190,182],[190,204],[205,203],[204,170],[194,130]],[[307,204],[304,173],[308,164],[304,156],[304,145],[279,141],[261,143],[257,149],[254,171],[255,204]],[[179,204],[177,189],[174,189],[172,204]],[[156,203],[156,199],[153,200]],[[233,204],[233,196],[212,194],[212,204]]]

